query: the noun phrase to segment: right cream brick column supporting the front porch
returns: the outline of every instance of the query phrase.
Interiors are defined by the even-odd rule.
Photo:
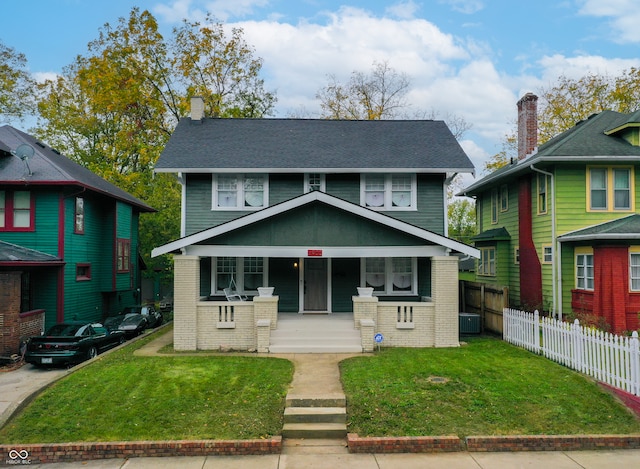
[[[435,305],[436,347],[458,347],[458,258],[431,258],[431,297]]]

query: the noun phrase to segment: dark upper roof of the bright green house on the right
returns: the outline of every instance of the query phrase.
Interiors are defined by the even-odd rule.
[[[639,122],[638,119],[640,119],[640,113],[621,114],[602,111],[594,114],[540,145],[534,155],[523,160],[512,161],[511,164],[471,184],[457,195],[476,195],[488,187],[504,183],[507,178],[560,162],[585,164],[640,161],[640,146],[631,145],[616,135],[617,131],[633,126],[634,122]]]

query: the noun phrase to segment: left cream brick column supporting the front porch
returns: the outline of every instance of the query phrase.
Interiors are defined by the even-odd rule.
[[[198,346],[196,304],[200,299],[200,257],[174,255],[173,267],[173,347],[176,350],[196,350]]]

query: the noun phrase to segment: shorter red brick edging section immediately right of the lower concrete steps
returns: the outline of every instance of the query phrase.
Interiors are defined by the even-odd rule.
[[[444,453],[464,451],[457,436],[362,437],[347,434],[350,453]]]

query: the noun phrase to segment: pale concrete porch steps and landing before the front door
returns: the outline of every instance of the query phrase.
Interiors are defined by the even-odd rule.
[[[278,313],[271,331],[271,353],[361,353],[360,331],[353,313]]]

